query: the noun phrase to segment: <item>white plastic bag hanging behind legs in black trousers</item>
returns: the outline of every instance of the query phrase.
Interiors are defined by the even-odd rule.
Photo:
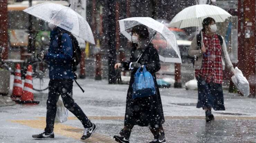
[[[57,101],[57,112],[55,117],[55,123],[63,123],[67,121],[67,109],[65,108],[61,98]]]

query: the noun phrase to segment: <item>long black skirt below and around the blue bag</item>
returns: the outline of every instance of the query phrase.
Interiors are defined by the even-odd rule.
[[[132,99],[131,93],[133,91],[131,85],[129,86],[126,100],[125,126],[154,127],[164,123],[162,101],[157,84],[156,91],[157,93],[153,96]]]

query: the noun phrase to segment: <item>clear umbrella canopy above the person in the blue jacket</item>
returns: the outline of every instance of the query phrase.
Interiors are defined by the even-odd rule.
[[[23,11],[71,32],[76,37],[95,44],[88,22],[69,7],[56,3],[41,3]]]

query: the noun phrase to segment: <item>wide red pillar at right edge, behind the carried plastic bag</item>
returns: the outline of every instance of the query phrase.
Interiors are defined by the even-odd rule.
[[[238,15],[239,25],[243,23],[243,29],[240,30],[241,35],[238,48],[238,67],[242,70],[244,76],[250,84],[250,97],[255,97],[255,0],[238,0],[238,8],[243,14]],[[243,21],[240,19],[243,18]],[[243,42],[243,43],[242,43]]]

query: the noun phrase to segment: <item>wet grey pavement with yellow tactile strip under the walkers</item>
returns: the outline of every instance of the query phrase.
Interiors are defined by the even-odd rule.
[[[78,80],[83,94],[74,84],[74,100],[97,124],[95,133],[109,141],[117,135],[124,122],[127,85],[108,85],[106,80]],[[195,108],[197,91],[165,88],[160,90],[166,121],[163,124],[167,143],[256,143],[256,99],[240,97],[225,91],[226,111],[213,111],[216,120],[206,123],[204,111]],[[38,141],[32,134],[43,131],[47,91],[35,93],[39,105],[0,107],[0,143],[70,143],[79,140],[82,125],[72,113],[67,122],[56,125],[55,140]],[[40,118],[38,118],[40,117]],[[64,126],[57,130],[57,126]],[[72,130],[70,130],[72,128]],[[73,129],[74,128],[74,129]],[[74,133],[74,135],[70,135]],[[95,140],[89,143],[100,142]],[[131,143],[148,143],[153,139],[147,127],[135,126]],[[103,142],[103,141],[101,141]],[[107,142],[105,142],[107,143]]]

